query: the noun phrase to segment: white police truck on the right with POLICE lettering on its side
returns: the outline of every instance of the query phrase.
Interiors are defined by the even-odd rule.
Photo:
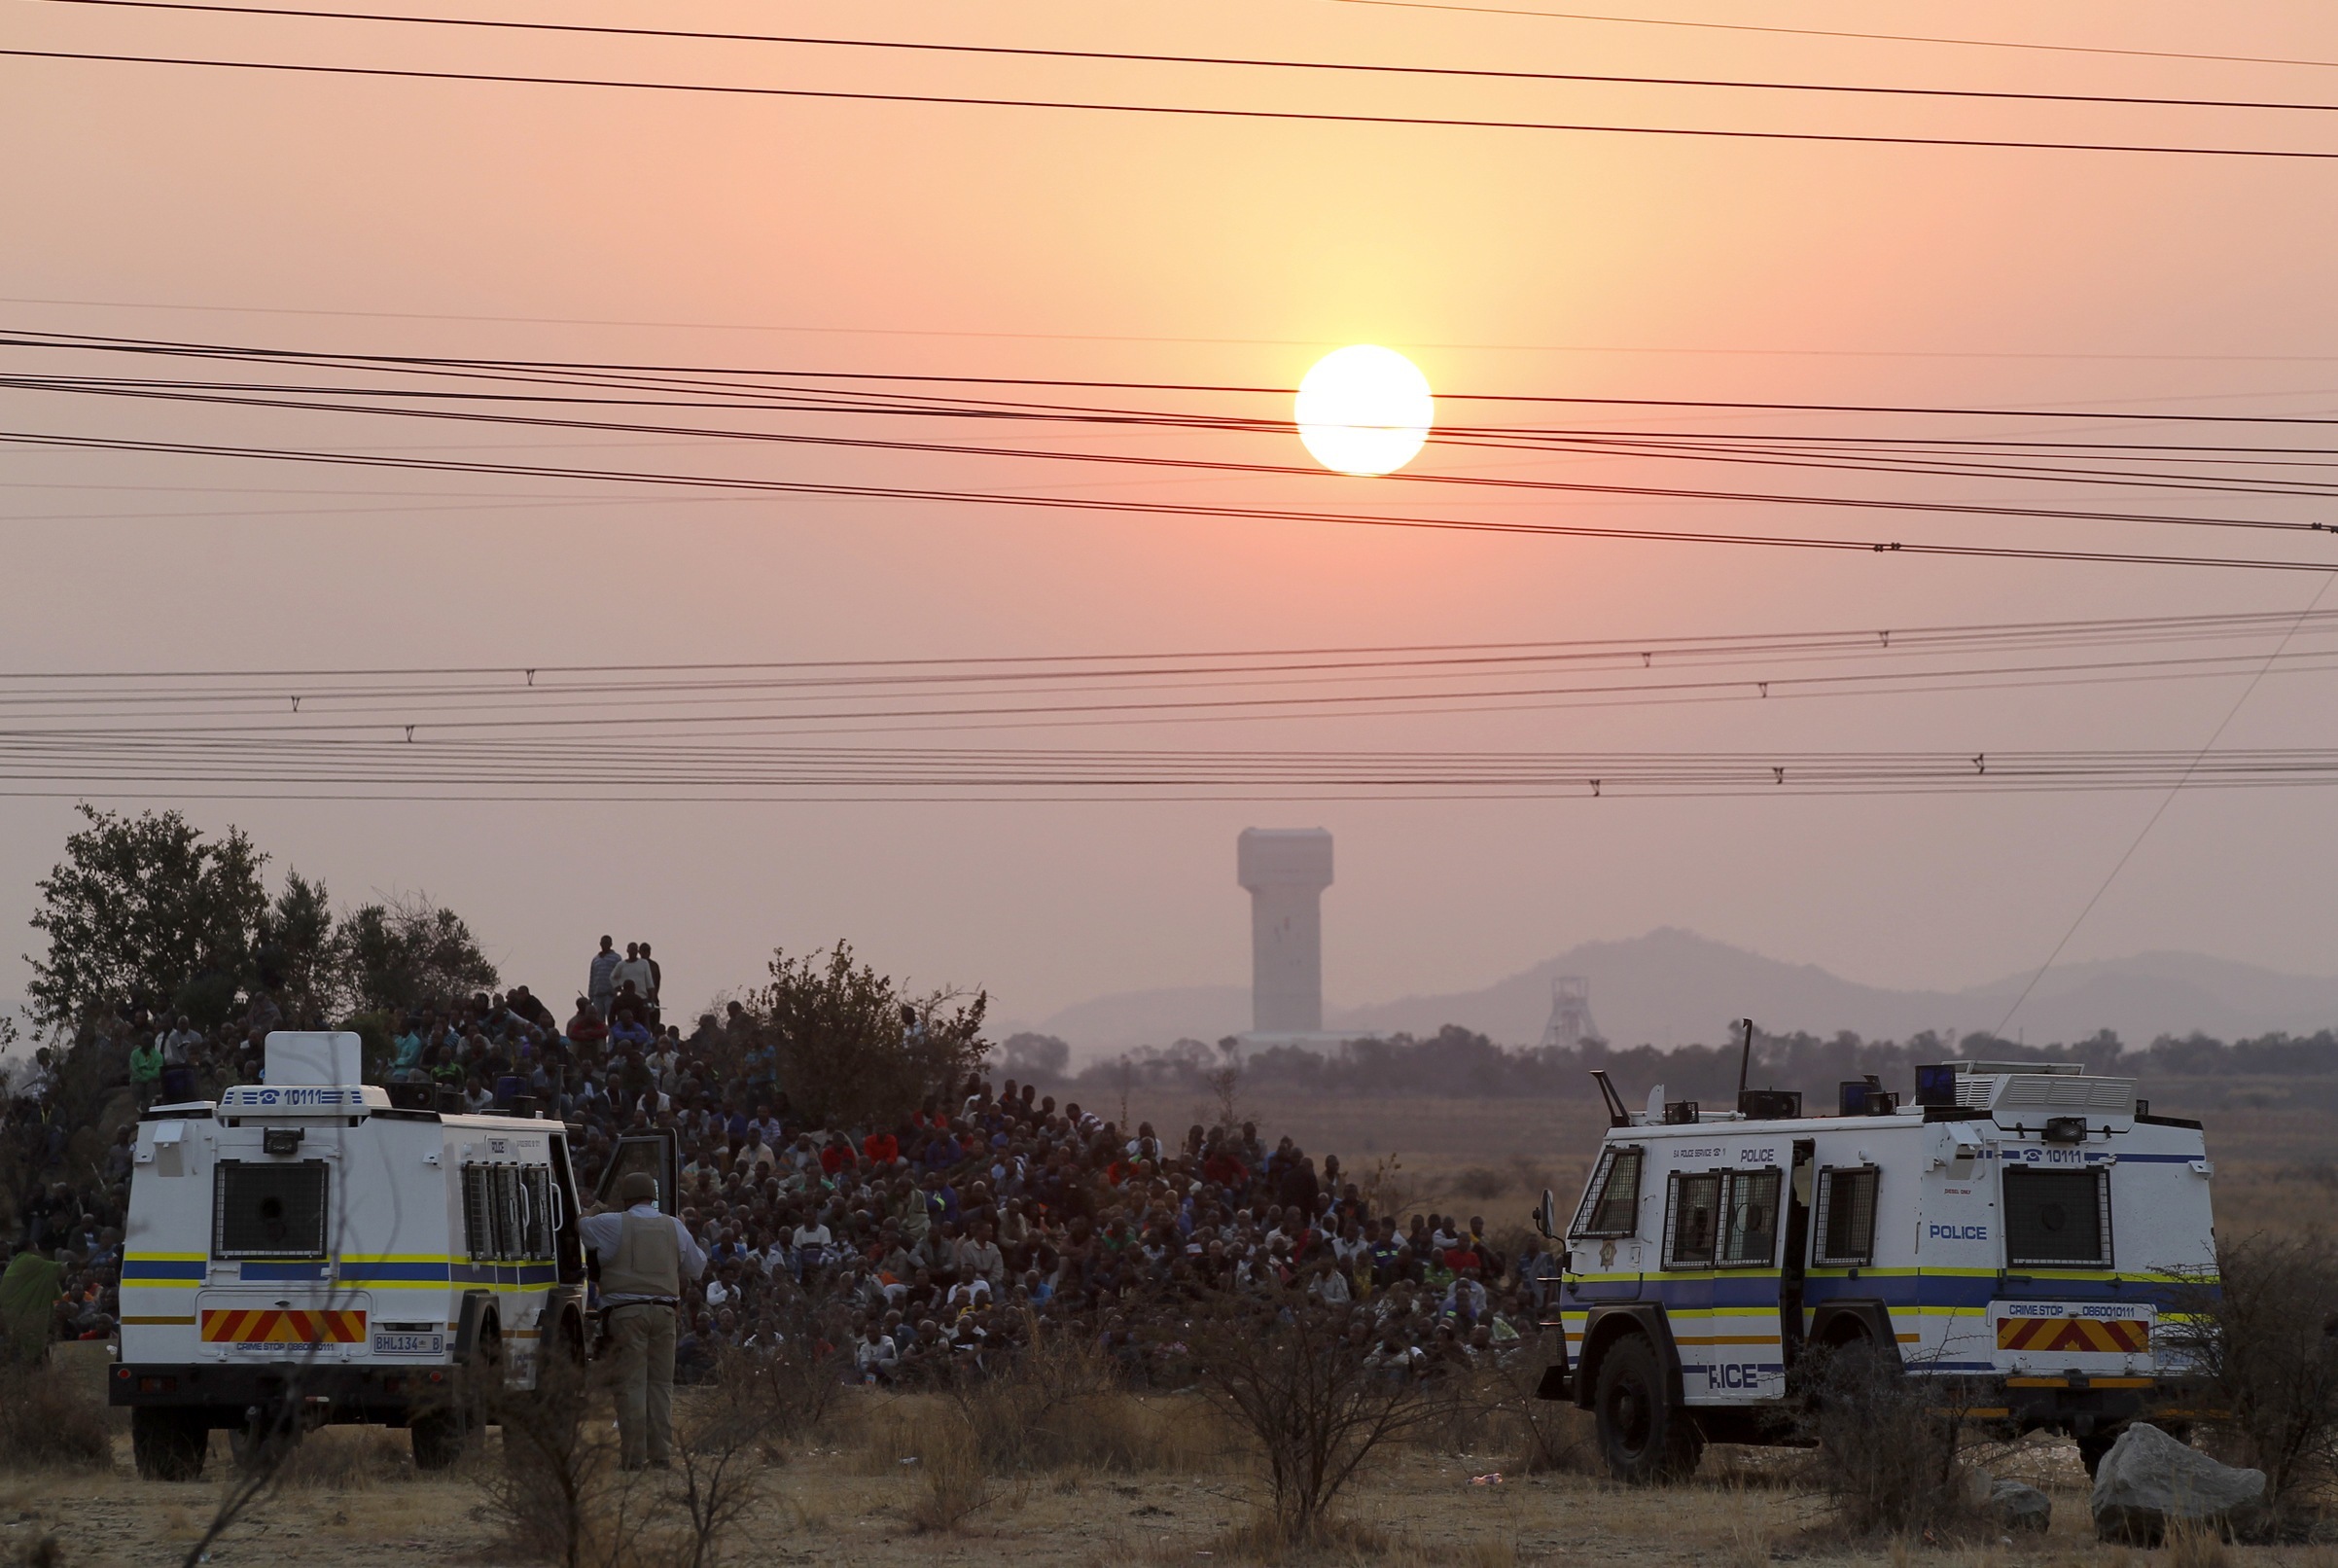
[[[2214,1288],[2198,1122],[2076,1063],[1917,1068],[1915,1103],[1873,1077],[1838,1115],[1800,1094],[1641,1112],[1599,1073],[1609,1133],[1559,1227],[1562,1351],[1543,1397],[1595,1411],[1609,1470],[1655,1482],[1707,1442],[1800,1442],[1796,1369],[1877,1355],[1943,1379],[1943,1407],[2076,1437],[2088,1468],[2193,1390],[2160,1318]]]

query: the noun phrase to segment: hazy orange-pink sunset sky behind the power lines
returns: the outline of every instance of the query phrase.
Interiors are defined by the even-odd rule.
[[[365,9],[365,7],[353,7]],[[1489,70],[2338,103],[2326,5],[1625,5],[1674,23],[1351,0],[669,5],[393,0],[430,16],[1377,61]],[[1508,9],[1562,9],[1517,0]],[[1826,37],[1856,30],[1978,47]],[[729,82],[1419,119],[2338,152],[2338,115],[1552,84],[613,40],[0,0],[0,49]],[[2263,56],[2242,63],[2160,56]],[[2319,63],[2315,63],[2319,61]],[[2004,439],[2329,446],[2338,159],[1842,145],[849,103],[0,56],[0,322],[362,355],[1293,388],[1342,344],[1410,355],[1440,418],[1632,435],[1880,432],[1868,416],[1457,404],[1454,393],[2022,409]],[[9,374],[187,365],[5,348]],[[196,369],[208,376],[213,369]],[[248,372],[238,372],[248,374]],[[267,376],[255,376],[267,379]],[[1113,393],[1113,397],[1134,397]],[[1288,418],[1288,397],[1150,393]],[[1475,407],[1478,411],[1461,411]],[[2071,411],[2067,418],[2055,418]],[[762,416],[704,414],[739,428]],[[1288,432],[881,435],[1309,465]],[[1849,514],[1321,472],[1017,463],[512,430],[0,388],[9,432],[503,465],[1433,512],[1616,528],[2331,561],[2331,535]],[[837,425],[842,428],[842,425]],[[1905,430],[1894,425],[1891,430]],[[2109,435],[2104,435],[2109,430]],[[2223,435],[2202,432],[2223,430]],[[863,435],[863,430],[856,430]],[[1812,474],[1431,446],[1414,470],[1613,486],[2329,519],[2326,500]],[[2289,470],[2284,470],[2287,474]],[[2298,474],[2289,474],[2298,477]],[[2303,612],[2329,582],[2221,570],[1384,530],[0,446],[0,668],[309,671],[961,659],[1683,638]],[[2319,603],[2338,610],[2338,594]],[[2338,647],[2329,633],[2305,647]],[[2280,631],[2214,678],[1662,706],[1513,703],[949,731],[952,745],[1377,752],[2188,752],[2338,745]],[[2111,657],[2158,657],[2123,650]],[[2247,694],[2235,713],[2235,701]],[[21,717],[21,715],[19,715]],[[16,720],[12,720],[16,722]],[[288,717],[290,722],[290,717]],[[867,734],[886,745],[900,736]],[[620,795],[638,752],[563,752]],[[601,932],[669,1000],[851,937],[994,1017],[1244,981],[1234,834],[1328,827],[1326,991],[1485,984],[1686,925],[1896,986],[2193,949],[2331,972],[2326,788],[1630,799],[255,799],[5,764],[0,995],[72,802],[236,823],[337,897],[428,890],[566,1000]],[[542,790],[556,792],[556,790]],[[589,792],[589,790],[584,790]],[[641,790],[659,795],[659,790]],[[238,795],[236,799],[201,799]],[[671,792],[666,792],[671,795]],[[823,792],[825,795],[825,792]],[[952,792],[938,792],[952,795]],[[1157,792],[1153,792],[1157,795]],[[1305,795],[1305,792],[1295,792]]]

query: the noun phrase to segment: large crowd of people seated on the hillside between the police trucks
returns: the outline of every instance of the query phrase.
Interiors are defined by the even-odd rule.
[[[278,1026],[260,993],[210,1031],[108,1014],[75,1052],[140,1105],[213,1098],[260,1080]],[[1277,1288],[1333,1313],[1391,1376],[1496,1365],[1534,1334],[1552,1260],[1531,1236],[1503,1246],[1482,1215],[1377,1213],[1335,1154],[1270,1145],[1248,1122],[1164,1138],[975,1075],[905,1115],[821,1126],[779,1063],[741,1002],[687,1033],[669,1021],[650,946],[620,956],[603,937],[570,1017],[526,986],[419,1007],[395,1021],[383,1075],[472,1110],[528,1096],[568,1122],[582,1173],[627,1133],[671,1131],[678,1213],[711,1260],[683,1302],[685,1381],[725,1348],[809,1339],[844,1376],[914,1386],[991,1374],[1033,1332],[1064,1332],[1132,1381],[1176,1386],[1183,1325],[1211,1297]],[[12,1087],[7,1147],[37,1178],[19,1246],[58,1271],[37,1334],[108,1337],[131,1129],[91,1164],[89,1138],[54,1112],[61,1070],[42,1059]]]

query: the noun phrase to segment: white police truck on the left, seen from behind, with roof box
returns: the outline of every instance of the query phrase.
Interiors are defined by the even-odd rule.
[[[138,1472],[196,1477],[215,1428],[325,1421],[407,1425],[419,1465],[451,1463],[547,1358],[582,1360],[577,1217],[568,1129],[533,1103],[463,1115],[365,1084],[353,1033],[269,1035],[262,1084],[138,1122],[108,1379]]]

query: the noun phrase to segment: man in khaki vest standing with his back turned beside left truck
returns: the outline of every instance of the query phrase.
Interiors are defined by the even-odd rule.
[[[673,1463],[673,1320],[683,1281],[706,1274],[706,1253],[657,1210],[657,1178],[617,1178],[624,1213],[584,1215],[584,1246],[601,1255],[601,1318],[615,1348],[617,1439],[627,1470]]]

